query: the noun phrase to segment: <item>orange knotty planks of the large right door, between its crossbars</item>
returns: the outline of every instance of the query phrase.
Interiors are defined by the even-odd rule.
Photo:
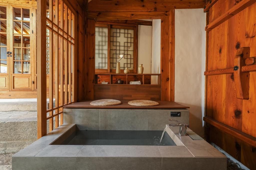
[[[244,0],[242,0],[244,1]],[[242,1],[218,0],[209,9],[209,22]],[[256,3],[238,11],[208,32],[207,71],[234,67],[238,48],[250,47],[250,56],[256,56]],[[249,100],[237,99],[233,74],[206,77],[206,115],[256,137],[256,72],[250,72]],[[256,149],[235,135],[209,125],[209,141],[214,142],[250,169],[256,169]]]

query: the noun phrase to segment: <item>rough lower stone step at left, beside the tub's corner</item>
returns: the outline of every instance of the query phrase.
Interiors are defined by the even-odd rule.
[[[18,152],[37,139],[37,112],[0,112],[0,132],[0,154]]]

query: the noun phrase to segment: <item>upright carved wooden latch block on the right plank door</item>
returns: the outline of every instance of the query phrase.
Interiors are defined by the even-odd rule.
[[[243,47],[237,50],[234,59],[234,81],[236,86],[237,98],[249,99],[250,73],[242,72],[246,58],[250,57],[250,47]]]

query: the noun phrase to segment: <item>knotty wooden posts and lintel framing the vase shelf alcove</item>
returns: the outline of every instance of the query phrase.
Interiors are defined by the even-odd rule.
[[[161,19],[161,100],[174,101],[174,85],[175,85],[175,10],[170,11],[157,11],[157,12],[102,12],[95,15],[97,12],[89,12],[88,27],[87,27],[87,42],[93,40],[95,29],[95,21],[113,21],[119,20],[135,20],[135,19]],[[131,17],[132,16],[132,17]],[[95,27],[94,27],[95,28]],[[92,43],[93,44],[93,43]],[[93,82],[95,72],[94,50],[92,44],[87,44],[87,79],[86,79],[86,99],[93,99]],[[93,44],[94,45],[94,44]],[[95,46],[95,45],[94,45]],[[94,66],[92,67],[92,64]]]

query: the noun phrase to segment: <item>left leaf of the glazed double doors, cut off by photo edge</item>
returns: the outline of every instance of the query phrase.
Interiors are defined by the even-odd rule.
[[[0,90],[9,90],[7,6],[0,5]]]

